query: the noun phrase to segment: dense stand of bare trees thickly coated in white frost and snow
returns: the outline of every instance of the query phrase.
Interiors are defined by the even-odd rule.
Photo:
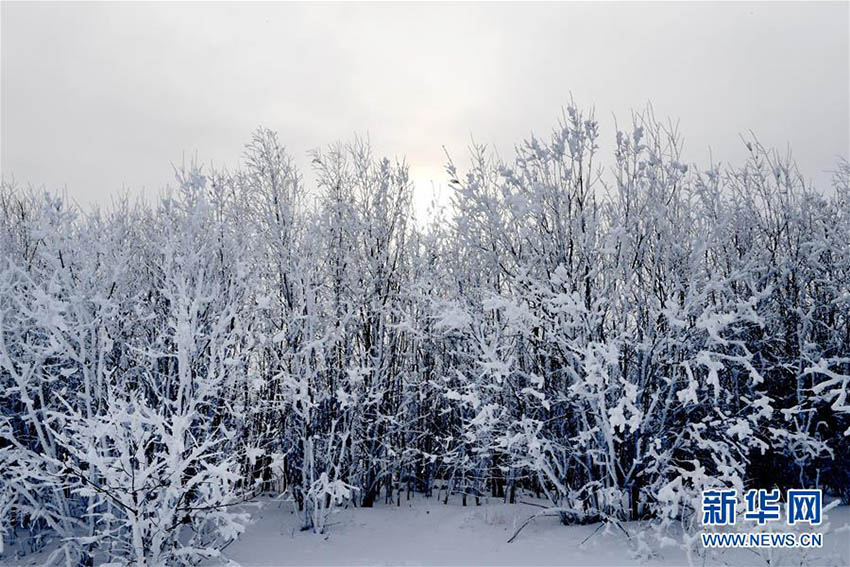
[[[0,559],[223,561],[261,495],[315,533],[531,495],[686,541],[707,488],[850,504],[848,162],[697,165],[571,105],[447,158],[423,219],[405,161],[285,141],[148,201],[3,183]]]

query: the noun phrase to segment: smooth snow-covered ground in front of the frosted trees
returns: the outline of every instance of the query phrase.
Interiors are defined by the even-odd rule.
[[[635,542],[619,528],[563,526],[541,517],[507,540],[539,508],[522,504],[484,503],[463,507],[436,498],[402,500],[401,506],[340,510],[327,532],[299,530],[290,504],[263,503],[256,523],[226,550],[244,566],[271,565],[685,565],[681,549],[657,549],[651,557],[635,553]],[[824,548],[801,558],[799,552],[774,550],[726,552],[705,565],[850,565],[850,533],[838,531],[850,520],[850,507],[829,512],[831,526]],[[634,538],[638,523],[625,523]],[[771,562],[768,563],[767,559]],[[802,560],[801,560],[802,559]],[[695,564],[702,565],[702,558]]]

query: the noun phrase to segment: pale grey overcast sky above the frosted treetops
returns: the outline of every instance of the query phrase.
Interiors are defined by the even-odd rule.
[[[83,204],[158,192],[197,153],[234,166],[258,125],[306,153],[367,134],[407,156],[417,200],[446,146],[503,156],[548,135],[572,93],[651,102],[687,161],[793,149],[828,183],[850,147],[850,4],[2,3],[2,173]]]

